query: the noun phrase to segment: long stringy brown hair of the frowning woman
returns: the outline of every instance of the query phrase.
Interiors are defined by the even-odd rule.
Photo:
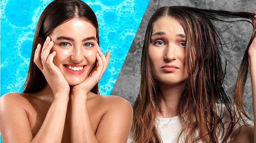
[[[223,142],[228,140],[232,129],[241,115],[247,114],[243,108],[243,89],[248,72],[248,48],[256,36],[254,14],[249,12],[228,12],[205,10],[198,8],[173,6],[159,8],[151,17],[145,34],[141,56],[141,82],[137,100],[134,103],[133,136],[136,143],[160,143],[161,138],[156,128],[156,111],[160,101],[164,100],[152,76],[148,47],[152,35],[152,25],[161,17],[174,17],[184,28],[186,34],[186,67],[188,78],[184,81],[184,91],[178,106],[183,122],[179,139],[184,142],[217,143],[220,137],[218,131],[226,131]],[[221,34],[210,20],[222,22],[229,18],[243,18],[236,21],[246,21],[253,25],[253,33],[242,60],[236,87],[234,89],[234,104],[224,89],[225,68],[219,48],[223,48]],[[246,20],[248,19],[248,20]],[[216,100],[218,99],[218,100]],[[216,103],[225,106],[219,115]],[[224,115],[230,116],[229,127],[224,128]],[[250,118],[249,118],[250,119]],[[196,132],[199,134],[196,135]]]

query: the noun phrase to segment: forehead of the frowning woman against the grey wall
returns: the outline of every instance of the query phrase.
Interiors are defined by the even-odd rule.
[[[159,31],[165,32],[167,34],[185,34],[184,28],[181,23],[176,18],[169,16],[161,17],[153,23],[152,33],[156,33]]]

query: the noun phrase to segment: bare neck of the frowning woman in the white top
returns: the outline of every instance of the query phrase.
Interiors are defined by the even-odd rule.
[[[160,102],[157,117],[170,118],[178,116],[178,106],[182,92],[182,83],[179,85],[165,85],[159,83],[158,87],[163,95],[163,99]]]

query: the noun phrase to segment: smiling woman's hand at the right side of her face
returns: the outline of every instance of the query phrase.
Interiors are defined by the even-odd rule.
[[[97,44],[96,53],[96,67],[91,71],[82,83],[72,88],[73,94],[87,95],[90,90],[96,85],[96,83],[102,77],[102,74],[106,71],[109,63],[110,51],[107,52],[106,56],[101,52]]]

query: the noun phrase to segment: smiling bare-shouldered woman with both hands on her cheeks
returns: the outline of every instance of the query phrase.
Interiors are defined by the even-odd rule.
[[[23,93],[0,98],[0,132],[13,142],[126,142],[132,107],[100,96],[110,52],[99,48],[98,22],[80,0],[54,0],[36,26]]]

